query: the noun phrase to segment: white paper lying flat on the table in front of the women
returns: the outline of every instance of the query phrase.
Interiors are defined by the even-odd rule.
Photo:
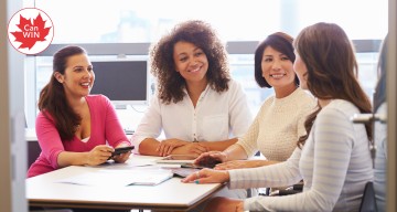
[[[163,169],[98,170],[65,178],[57,182],[100,187],[155,186],[172,177],[172,171]]]

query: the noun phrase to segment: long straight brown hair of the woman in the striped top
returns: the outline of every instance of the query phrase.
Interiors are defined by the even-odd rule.
[[[358,65],[355,50],[343,29],[334,23],[316,23],[303,29],[293,42],[308,68],[308,88],[318,98],[340,98],[353,103],[361,113],[371,113],[368,96],[357,81]],[[304,123],[307,135],[299,138],[301,148],[321,108]],[[365,125],[372,140],[372,126]]]

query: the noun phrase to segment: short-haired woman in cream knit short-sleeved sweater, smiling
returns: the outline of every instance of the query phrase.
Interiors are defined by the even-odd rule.
[[[287,160],[299,137],[305,135],[304,119],[314,110],[311,94],[299,87],[293,72],[293,39],[282,32],[267,36],[255,51],[255,80],[260,87],[273,87],[275,94],[262,104],[248,131],[224,151],[202,153],[196,163],[210,158],[222,161],[215,169],[251,168]],[[245,160],[257,151],[266,160]]]

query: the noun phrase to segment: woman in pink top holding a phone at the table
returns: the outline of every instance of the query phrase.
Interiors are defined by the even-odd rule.
[[[89,95],[94,81],[94,67],[84,49],[71,45],[54,54],[53,74],[40,93],[35,123],[42,152],[28,177],[71,165],[100,165],[114,148],[130,146],[110,100]],[[129,155],[112,159],[125,162]]]

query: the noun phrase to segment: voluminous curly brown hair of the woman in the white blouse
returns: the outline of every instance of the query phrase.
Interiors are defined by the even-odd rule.
[[[203,50],[208,60],[208,85],[218,93],[227,91],[230,75],[225,46],[208,23],[191,20],[176,24],[150,49],[151,73],[157,77],[158,96],[162,103],[178,103],[185,95],[183,89],[186,82],[175,71],[173,59],[174,45],[180,41],[193,43]]]

